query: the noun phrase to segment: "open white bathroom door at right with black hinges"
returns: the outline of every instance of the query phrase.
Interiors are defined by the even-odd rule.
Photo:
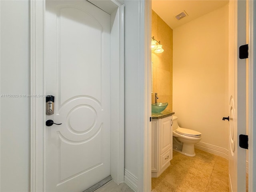
[[[246,44],[246,2],[229,2],[229,178],[230,192],[246,191],[246,150],[239,135],[246,134],[246,64],[238,47]]]

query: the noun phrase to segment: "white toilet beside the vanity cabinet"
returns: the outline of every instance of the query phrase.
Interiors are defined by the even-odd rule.
[[[201,140],[201,133],[195,130],[181,128],[178,125],[178,117],[172,118],[173,150],[189,157],[196,156],[194,144]]]

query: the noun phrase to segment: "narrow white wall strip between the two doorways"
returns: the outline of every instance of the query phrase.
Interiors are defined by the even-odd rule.
[[[138,9],[139,1],[125,1],[124,58],[124,168],[138,178]],[[133,40],[132,40],[133,39]]]

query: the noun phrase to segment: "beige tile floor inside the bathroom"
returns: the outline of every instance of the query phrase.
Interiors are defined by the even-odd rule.
[[[228,160],[195,151],[195,157],[173,151],[171,165],[152,178],[152,192],[228,192]]]

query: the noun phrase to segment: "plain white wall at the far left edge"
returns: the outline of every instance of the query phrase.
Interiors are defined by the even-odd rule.
[[[1,13],[1,192],[30,189],[30,99],[2,94],[30,94],[29,1],[0,1]]]

